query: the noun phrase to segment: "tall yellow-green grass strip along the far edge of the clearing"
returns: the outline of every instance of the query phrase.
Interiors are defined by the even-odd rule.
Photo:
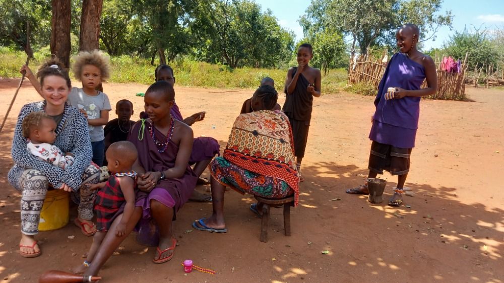
[[[43,47],[34,53],[35,59],[30,61],[33,72],[38,66],[49,58],[49,46]],[[0,47],[0,77],[19,78],[19,68],[25,63],[26,54],[22,51],[12,51]],[[72,61],[70,62],[72,64]],[[154,69],[150,60],[128,55],[112,56],[111,83],[139,83],[152,84],[154,82]],[[275,81],[275,88],[283,93],[287,69],[264,68],[236,68],[227,65],[210,64],[194,61],[187,57],[177,58],[171,64],[175,70],[177,85],[208,88],[245,88],[256,89],[264,77]],[[322,93],[337,93],[346,85],[347,72],[345,69],[332,69],[322,78]]]

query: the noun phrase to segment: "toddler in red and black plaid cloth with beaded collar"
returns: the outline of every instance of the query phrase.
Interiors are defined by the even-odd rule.
[[[97,252],[107,250],[101,245],[107,232],[122,237],[131,231],[127,231],[127,225],[134,218],[137,173],[133,171],[133,164],[137,161],[137,149],[131,142],[116,142],[110,145],[105,157],[110,177],[106,182],[89,184],[92,190],[99,189],[94,207],[98,232],[94,235],[86,260],[74,270],[76,273],[84,272]]]

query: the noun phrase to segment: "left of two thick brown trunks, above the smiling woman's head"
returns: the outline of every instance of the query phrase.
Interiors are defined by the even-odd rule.
[[[70,0],[52,0],[51,53],[70,67]]]

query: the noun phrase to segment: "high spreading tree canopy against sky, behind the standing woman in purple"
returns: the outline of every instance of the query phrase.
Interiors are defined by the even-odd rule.
[[[440,26],[451,26],[451,12],[438,15],[442,0],[312,0],[300,19],[303,31],[332,28],[353,38],[361,54],[375,44],[391,42],[392,33],[411,22],[431,38]],[[392,40],[393,41],[393,40]]]

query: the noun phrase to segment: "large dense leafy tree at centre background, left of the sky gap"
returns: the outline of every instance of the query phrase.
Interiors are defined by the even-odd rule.
[[[290,58],[294,34],[278,25],[270,10],[252,1],[219,1],[212,32],[197,57],[238,66],[276,67]]]

